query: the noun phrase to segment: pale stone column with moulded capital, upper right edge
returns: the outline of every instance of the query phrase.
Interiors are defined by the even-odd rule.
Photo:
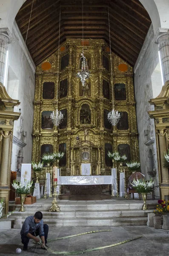
[[[169,29],[159,28],[155,41],[160,50],[164,84],[169,81]]]

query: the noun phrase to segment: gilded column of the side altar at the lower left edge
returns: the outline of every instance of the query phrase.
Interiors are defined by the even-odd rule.
[[[9,158],[11,152],[12,132],[1,131],[0,140],[2,142],[2,157],[0,164],[0,187],[9,187],[9,172],[11,166],[11,159]]]

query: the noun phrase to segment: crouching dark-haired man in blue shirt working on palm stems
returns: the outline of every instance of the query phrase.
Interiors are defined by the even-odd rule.
[[[42,212],[36,212],[34,216],[29,216],[25,219],[20,231],[23,250],[28,250],[29,239],[34,239],[36,243],[41,239],[43,245],[46,246],[49,227],[47,224],[43,225],[42,218]],[[36,237],[38,235],[40,236],[40,239]]]

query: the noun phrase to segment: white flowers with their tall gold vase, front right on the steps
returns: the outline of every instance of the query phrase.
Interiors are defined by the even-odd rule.
[[[152,189],[154,189],[154,181],[150,180],[150,181],[146,181],[144,179],[140,179],[140,180],[133,180],[132,182],[132,186],[133,189],[136,190],[137,193],[141,193],[142,197],[143,197],[143,210],[148,210],[148,207],[146,205],[146,201],[147,201],[147,193],[152,192]]]

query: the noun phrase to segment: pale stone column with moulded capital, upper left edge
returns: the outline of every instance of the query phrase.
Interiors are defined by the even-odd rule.
[[[8,29],[0,29],[0,82],[4,83],[6,53],[8,44],[12,41],[11,34]]]

